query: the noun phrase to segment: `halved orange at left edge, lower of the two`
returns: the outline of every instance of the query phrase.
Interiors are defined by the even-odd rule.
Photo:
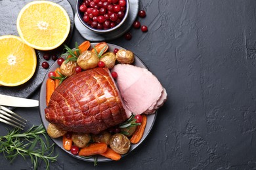
[[[20,37],[0,37],[0,85],[18,86],[24,84],[35,73],[37,57],[35,50]]]

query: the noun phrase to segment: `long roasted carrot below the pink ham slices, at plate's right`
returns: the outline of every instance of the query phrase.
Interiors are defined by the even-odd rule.
[[[133,136],[131,137],[130,141],[133,144],[139,143],[140,139],[143,136],[145,127],[146,127],[146,115],[145,114],[141,114],[142,116],[142,122],[141,124],[137,127],[135,133],[133,133]]]

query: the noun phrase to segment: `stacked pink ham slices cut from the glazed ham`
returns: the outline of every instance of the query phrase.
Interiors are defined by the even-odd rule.
[[[163,105],[167,93],[150,71],[134,65],[117,64],[117,86],[128,110],[133,114],[152,114]]]

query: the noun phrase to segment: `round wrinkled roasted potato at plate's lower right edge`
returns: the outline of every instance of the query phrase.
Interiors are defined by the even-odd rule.
[[[110,138],[110,148],[118,154],[126,154],[131,147],[131,142],[127,136],[116,133]]]

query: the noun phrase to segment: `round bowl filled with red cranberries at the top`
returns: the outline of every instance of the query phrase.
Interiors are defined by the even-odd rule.
[[[125,22],[129,0],[77,0],[76,12],[85,27],[95,33],[108,33]]]

